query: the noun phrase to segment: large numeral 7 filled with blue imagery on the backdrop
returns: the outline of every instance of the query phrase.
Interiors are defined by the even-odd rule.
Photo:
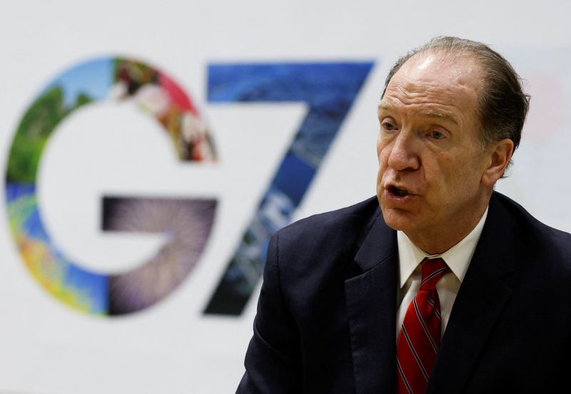
[[[213,64],[208,101],[300,101],[308,107],[295,138],[228,263],[204,313],[240,315],[261,279],[271,234],[290,223],[372,62]],[[271,125],[268,125],[268,131]]]

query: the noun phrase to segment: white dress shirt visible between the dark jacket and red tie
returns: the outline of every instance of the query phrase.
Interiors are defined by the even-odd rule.
[[[398,333],[400,333],[400,326],[403,325],[408,304],[413,300],[420,288],[420,278],[422,276],[420,262],[427,257],[443,258],[451,271],[440,278],[440,281],[436,283],[436,291],[438,292],[438,298],[440,298],[440,313],[442,315],[442,330],[440,332],[440,338],[442,338],[446,325],[448,325],[450,311],[452,310],[452,305],[454,305],[458,289],[460,289],[466,271],[468,271],[468,266],[476,249],[477,241],[482,234],[486,217],[487,208],[480,221],[468,236],[465,236],[462,241],[448,249],[448,251],[438,255],[425,253],[420,250],[413,241],[410,241],[410,238],[408,238],[405,233],[397,231],[400,281],[400,290],[398,291],[397,297],[397,338]]]

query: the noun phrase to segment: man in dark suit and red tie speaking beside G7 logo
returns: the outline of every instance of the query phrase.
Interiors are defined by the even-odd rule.
[[[238,393],[569,387],[571,236],[493,191],[527,106],[483,44],[439,37],[399,59],[377,198],[273,236]]]

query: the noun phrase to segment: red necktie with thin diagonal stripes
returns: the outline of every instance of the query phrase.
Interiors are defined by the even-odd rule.
[[[408,305],[397,340],[397,394],[425,393],[440,346],[440,300],[436,283],[450,271],[442,258],[422,263],[423,278]]]

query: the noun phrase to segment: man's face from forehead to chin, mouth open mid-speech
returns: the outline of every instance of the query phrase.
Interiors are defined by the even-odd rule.
[[[483,213],[489,190],[481,179],[490,158],[476,113],[481,81],[468,56],[417,54],[379,104],[380,208],[388,226],[415,243],[469,231]]]

